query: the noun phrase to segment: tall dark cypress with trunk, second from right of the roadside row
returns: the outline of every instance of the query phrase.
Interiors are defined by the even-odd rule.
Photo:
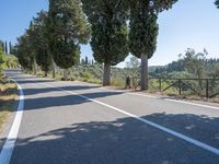
[[[110,85],[111,66],[128,55],[128,10],[124,0],[82,0],[82,3],[92,25],[93,57],[104,63],[103,85]]]

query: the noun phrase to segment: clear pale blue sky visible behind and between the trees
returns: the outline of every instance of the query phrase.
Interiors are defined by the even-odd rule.
[[[187,48],[196,51],[206,48],[209,57],[219,58],[219,9],[214,1],[178,0],[173,9],[162,12],[159,15],[158,48],[149,65],[166,65]],[[48,9],[48,0],[2,0],[0,39],[15,43],[42,9]],[[82,46],[81,50],[82,57],[92,57],[90,46]],[[125,62],[119,65],[123,66]]]

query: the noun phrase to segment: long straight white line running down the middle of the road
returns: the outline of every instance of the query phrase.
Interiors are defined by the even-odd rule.
[[[137,116],[137,115],[127,113],[127,112],[122,110],[122,109],[119,109],[119,108],[117,108],[117,107],[111,106],[111,105],[108,105],[108,104],[99,102],[99,101],[96,101],[96,99],[87,97],[87,96],[84,96],[84,95],[81,95],[81,94],[78,94],[78,93],[74,93],[74,92],[71,92],[71,91],[67,91],[67,90],[64,90],[64,89],[60,89],[60,87],[56,87],[56,86],[53,86],[53,85],[49,85],[49,84],[43,84],[43,85],[46,85],[46,86],[49,86],[49,87],[54,87],[54,89],[57,89],[57,90],[59,90],[59,91],[65,91],[65,92],[70,93],[70,94],[78,95],[79,97],[82,97],[82,98],[84,98],[84,99],[88,99],[88,101],[94,102],[94,103],[96,103],[96,104],[103,105],[103,106],[108,107],[108,108],[111,108],[111,109],[113,109],[113,110],[116,110],[116,112],[118,112],[118,113],[122,113],[122,114],[124,114],[124,115],[127,115],[127,116],[129,116],[129,117],[132,117],[132,118],[135,118],[135,119],[137,119],[137,120],[139,120],[139,121],[141,121],[141,122],[145,122],[145,124],[147,124],[147,125],[149,125],[149,126],[151,126],[151,127],[153,127],[153,128],[160,129],[160,130],[162,130],[162,131],[164,131],[164,132],[166,132],[166,133],[169,133],[169,134],[172,134],[172,136],[174,136],[174,137],[177,137],[177,138],[184,140],[184,141],[187,141],[187,142],[189,142],[189,143],[192,143],[192,144],[195,144],[195,145],[197,145],[197,147],[199,147],[199,148],[203,148],[203,149],[205,149],[205,150],[207,150],[207,151],[209,151],[209,152],[211,152],[211,153],[214,153],[214,154],[216,154],[216,155],[219,155],[219,149],[217,149],[217,148],[214,148],[214,147],[211,147],[211,145],[208,145],[208,144],[206,144],[206,143],[204,143],[204,142],[200,142],[200,141],[198,141],[198,140],[192,139],[192,138],[189,138],[189,137],[187,137],[187,136],[185,136],[185,134],[178,133],[178,132],[176,132],[176,131],[174,131],[174,130],[171,130],[171,129],[169,129],[169,128],[162,127],[162,126],[160,126],[160,125],[158,125],[158,124],[154,124],[154,122],[152,122],[152,121],[150,121],[150,120],[147,120],[147,119],[145,119],[145,118],[141,118],[141,117]]]

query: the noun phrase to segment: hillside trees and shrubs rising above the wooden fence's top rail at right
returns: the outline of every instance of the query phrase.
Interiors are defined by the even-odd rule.
[[[150,71],[153,78],[219,78],[219,59],[208,59],[208,52],[196,52],[187,48],[185,55],[177,61],[164,67],[155,67]]]

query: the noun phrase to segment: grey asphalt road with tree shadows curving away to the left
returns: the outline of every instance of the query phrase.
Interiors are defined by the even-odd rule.
[[[219,163],[219,155],[193,143],[219,149],[217,108],[15,71],[8,75],[25,95],[11,164]]]

